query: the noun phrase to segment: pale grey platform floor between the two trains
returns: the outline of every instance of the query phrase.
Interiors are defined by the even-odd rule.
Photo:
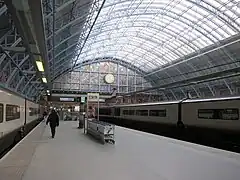
[[[239,180],[240,155],[116,127],[102,145],[61,122],[40,124],[0,161],[1,180]]]

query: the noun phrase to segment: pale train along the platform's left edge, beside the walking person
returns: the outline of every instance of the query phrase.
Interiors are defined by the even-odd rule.
[[[45,106],[0,89],[0,156],[42,119]]]

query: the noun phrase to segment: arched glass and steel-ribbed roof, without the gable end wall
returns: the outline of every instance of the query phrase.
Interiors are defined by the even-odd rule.
[[[1,46],[23,46],[26,42],[2,5]],[[216,85],[215,89],[221,85],[231,93],[231,85],[240,89],[235,72],[240,66],[238,0],[44,0],[42,5],[48,81],[108,58],[168,87],[230,69],[231,74],[223,77],[235,78],[205,85],[212,94]],[[0,54],[0,85],[34,97],[45,85],[24,53],[10,53],[12,58]],[[188,87],[202,91],[200,85]]]

